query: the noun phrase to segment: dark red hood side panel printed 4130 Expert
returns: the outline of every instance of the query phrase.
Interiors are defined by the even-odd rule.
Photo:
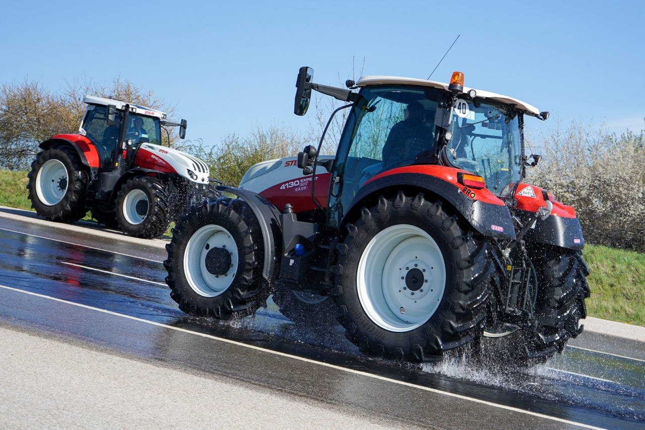
[[[329,181],[332,179],[331,173],[316,175],[315,197],[319,205],[327,207],[327,194],[329,192]],[[293,212],[307,212],[317,208],[312,200],[312,177],[303,176],[291,181],[281,182],[273,185],[262,192],[260,195],[270,201],[282,210],[284,205],[290,203],[293,206]]]

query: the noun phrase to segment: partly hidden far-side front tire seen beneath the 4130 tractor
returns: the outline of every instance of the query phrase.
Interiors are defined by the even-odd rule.
[[[321,328],[337,325],[337,308],[330,297],[320,303],[304,303],[288,285],[281,285],[273,292],[273,302],[280,308],[281,314],[296,324]]]

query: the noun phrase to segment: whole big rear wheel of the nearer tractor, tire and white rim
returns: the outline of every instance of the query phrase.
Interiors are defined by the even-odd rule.
[[[487,245],[441,201],[381,197],[347,230],[331,294],[362,352],[436,360],[480,335],[493,270]]]

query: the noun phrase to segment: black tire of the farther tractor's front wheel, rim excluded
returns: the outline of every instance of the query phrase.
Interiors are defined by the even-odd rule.
[[[148,197],[148,214],[141,223],[130,224],[123,215],[123,201],[129,192],[139,189]],[[152,239],[164,234],[170,224],[170,184],[153,176],[137,176],[124,183],[116,201],[119,228],[135,238]]]

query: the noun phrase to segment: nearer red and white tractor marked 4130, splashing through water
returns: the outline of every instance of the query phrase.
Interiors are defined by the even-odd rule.
[[[259,163],[238,188],[218,187],[237,198],[178,221],[164,265],[181,310],[231,318],[273,292],[292,320],[337,318],[362,352],[397,360],[487,336],[542,362],[581,333],[579,220],[523,182],[540,158],[524,153],[524,119],[548,112],[464,87],[460,72],[449,84],[367,76],[349,90],[312,74],[299,72],[294,112],[312,90],[349,102],[333,112],[350,109],[337,153]]]

